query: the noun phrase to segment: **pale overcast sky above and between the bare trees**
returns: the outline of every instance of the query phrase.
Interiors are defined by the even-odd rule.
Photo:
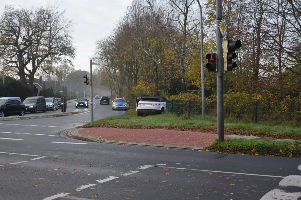
[[[14,7],[40,7],[47,2],[59,4],[60,10],[66,10],[66,18],[73,19],[75,25],[72,35],[77,49],[73,64],[76,70],[90,71],[90,58],[95,49],[96,39],[109,35],[132,0],[1,0],[0,14],[2,15],[5,4]]]

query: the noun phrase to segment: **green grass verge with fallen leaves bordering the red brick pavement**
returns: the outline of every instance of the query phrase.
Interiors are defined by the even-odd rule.
[[[82,127],[91,127],[91,125],[89,123]],[[165,112],[163,115],[138,117],[135,109],[129,109],[124,115],[94,121],[93,127],[168,129],[216,133],[216,119],[212,117],[202,118],[201,116],[178,117],[168,112]],[[247,135],[266,137],[269,139],[259,141],[248,139],[227,139],[222,142],[214,141],[210,146],[204,148],[204,150],[281,157],[300,157],[301,155],[301,148],[298,141],[272,140],[301,140],[301,128],[299,127],[243,122],[224,122],[224,127],[224,133],[228,135]]]

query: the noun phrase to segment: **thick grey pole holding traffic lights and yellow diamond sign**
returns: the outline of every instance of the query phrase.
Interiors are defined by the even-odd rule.
[[[222,21],[222,0],[216,0],[216,139],[224,140],[223,46],[219,24]]]

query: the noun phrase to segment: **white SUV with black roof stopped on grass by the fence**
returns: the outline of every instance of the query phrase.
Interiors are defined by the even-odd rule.
[[[163,114],[164,110],[166,110],[165,97],[141,97],[136,105],[137,116]]]

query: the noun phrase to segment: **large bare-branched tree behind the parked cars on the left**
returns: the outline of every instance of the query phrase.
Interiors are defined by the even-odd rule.
[[[13,62],[23,84],[28,77],[30,89],[39,68],[54,73],[54,64],[72,63],[75,57],[70,35],[73,23],[64,14],[55,4],[19,9],[5,6],[0,22],[1,52],[16,51],[16,59],[6,62]]]

